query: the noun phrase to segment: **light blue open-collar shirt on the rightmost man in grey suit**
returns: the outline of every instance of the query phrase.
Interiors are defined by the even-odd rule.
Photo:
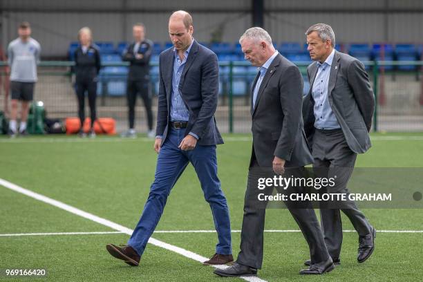
[[[317,74],[312,86],[314,100],[314,127],[317,129],[340,129],[337,117],[333,113],[328,99],[328,86],[330,67],[332,66],[335,49],[332,50],[326,61],[321,64],[317,62]]]

